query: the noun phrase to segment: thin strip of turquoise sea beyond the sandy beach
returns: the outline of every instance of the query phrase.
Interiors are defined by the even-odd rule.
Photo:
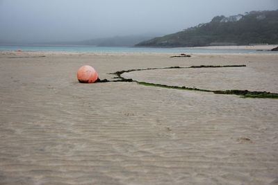
[[[92,53],[270,53],[255,49],[145,48],[99,46],[0,46],[0,51],[65,51]]]

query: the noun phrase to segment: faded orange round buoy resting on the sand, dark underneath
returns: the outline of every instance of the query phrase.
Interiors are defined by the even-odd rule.
[[[77,79],[81,83],[93,83],[97,78],[97,71],[93,67],[85,65],[77,71]]]

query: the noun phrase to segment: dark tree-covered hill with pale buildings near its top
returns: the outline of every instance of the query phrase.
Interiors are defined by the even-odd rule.
[[[216,16],[178,33],[136,44],[149,47],[278,44],[278,10]]]

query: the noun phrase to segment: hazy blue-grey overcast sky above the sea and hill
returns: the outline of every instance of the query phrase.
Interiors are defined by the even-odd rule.
[[[277,9],[278,0],[0,0],[0,42],[175,33],[215,15]]]

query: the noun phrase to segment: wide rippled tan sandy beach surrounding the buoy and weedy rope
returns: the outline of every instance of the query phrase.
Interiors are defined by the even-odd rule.
[[[76,79],[278,93],[278,53],[171,55],[1,51],[0,184],[277,184],[277,99]]]

